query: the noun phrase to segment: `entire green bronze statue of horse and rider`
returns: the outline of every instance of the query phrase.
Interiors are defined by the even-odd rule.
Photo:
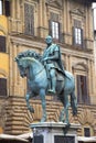
[[[25,51],[15,57],[21,77],[28,78],[26,106],[31,112],[34,112],[30,99],[40,95],[43,110],[41,122],[45,122],[45,95],[57,96],[63,103],[60,121],[70,123],[68,107],[72,107],[73,116],[77,114],[74,77],[64,69],[60,46],[53,44],[52,36],[46,36],[45,42],[47,46],[42,56],[33,51]],[[70,101],[68,97],[71,97]]]

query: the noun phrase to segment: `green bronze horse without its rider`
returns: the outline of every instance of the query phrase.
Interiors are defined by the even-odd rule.
[[[28,91],[25,95],[26,106],[31,112],[34,112],[32,106],[30,106],[30,99],[39,96],[42,101],[42,119],[41,122],[46,121],[46,103],[45,95],[47,92],[47,77],[46,70],[41,62],[41,56],[33,51],[25,51],[20,53],[15,57],[21,77],[28,78]],[[63,103],[63,109],[60,113],[60,122],[70,123],[68,121],[68,107],[72,107],[73,116],[77,113],[77,102],[75,97],[75,81],[71,73],[65,70],[66,76],[64,77],[61,73],[57,73],[56,81],[56,96]],[[63,78],[61,78],[61,76]],[[68,101],[68,96],[71,100]],[[71,102],[71,103],[70,103]]]

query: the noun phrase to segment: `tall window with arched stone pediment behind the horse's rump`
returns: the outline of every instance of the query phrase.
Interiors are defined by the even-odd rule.
[[[75,74],[76,78],[76,95],[77,95],[77,102],[78,103],[86,103],[90,102],[89,95],[88,95],[88,68],[87,65],[84,63],[77,63],[73,65],[73,73]]]

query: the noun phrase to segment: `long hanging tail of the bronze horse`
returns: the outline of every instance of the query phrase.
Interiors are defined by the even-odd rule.
[[[71,107],[73,110],[73,116],[77,114],[77,101],[74,91],[71,94]]]

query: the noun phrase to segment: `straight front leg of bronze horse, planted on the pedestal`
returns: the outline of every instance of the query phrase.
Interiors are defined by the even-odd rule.
[[[45,121],[46,121],[45,89],[41,89],[41,90],[40,90],[40,97],[41,97],[42,110],[43,110],[41,122],[45,122]]]

